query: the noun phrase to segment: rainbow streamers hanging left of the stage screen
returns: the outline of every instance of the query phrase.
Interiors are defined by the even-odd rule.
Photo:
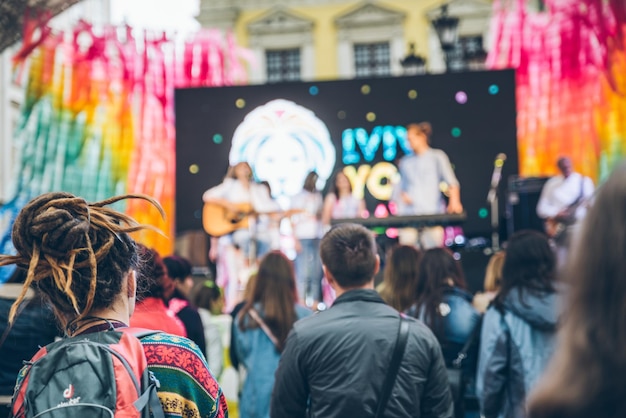
[[[33,39],[29,30],[16,56],[27,80],[14,135],[14,198],[0,208],[0,250],[10,252],[12,220],[30,198],[63,190],[88,201],[122,193],[153,196],[166,219],[140,201],[118,209],[163,231],[136,238],[171,253],[174,88],[244,82],[241,61],[248,53],[215,30],[181,43],[128,26],[96,30],[81,21],[70,32],[54,33],[42,25],[44,36]]]

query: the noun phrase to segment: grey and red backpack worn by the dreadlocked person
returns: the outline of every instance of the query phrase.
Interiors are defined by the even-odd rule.
[[[83,334],[41,348],[20,372],[16,418],[164,418],[140,338],[133,328]]]

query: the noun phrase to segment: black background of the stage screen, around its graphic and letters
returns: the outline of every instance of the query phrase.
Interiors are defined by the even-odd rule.
[[[342,143],[342,138],[346,130],[362,129],[372,134],[377,128],[379,132],[384,127],[387,131],[389,127],[401,131],[411,122],[430,122],[431,146],[448,154],[461,183],[461,199],[468,215],[463,225],[465,234],[491,234],[486,198],[496,155],[506,155],[503,179],[518,173],[513,70],[177,89],[178,233],[202,229],[202,193],[222,181],[235,130],[253,109],[275,99],[292,101],[324,122],[336,151],[336,169],[345,166],[342,157],[346,143]],[[398,142],[396,146],[396,157],[401,157],[404,151]],[[352,156],[356,152],[360,161],[349,165],[355,171],[365,164],[373,168],[386,161],[384,149],[381,141],[372,161],[366,161],[356,144]],[[388,181],[380,179],[382,186]],[[505,181],[501,183],[502,191]],[[384,203],[372,196],[367,187],[364,196],[370,213]],[[502,193],[500,206],[503,216]]]

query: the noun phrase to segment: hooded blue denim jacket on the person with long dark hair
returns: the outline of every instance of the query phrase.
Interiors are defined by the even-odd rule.
[[[502,308],[489,307],[483,319],[476,392],[485,418],[523,418],[554,352],[557,293],[513,289]]]

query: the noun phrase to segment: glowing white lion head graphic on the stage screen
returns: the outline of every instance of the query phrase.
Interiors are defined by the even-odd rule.
[[[328,128],[309,109],[277,99],[246,115],[233,135],[230,164],[247,161],[257,180],[267,180],[274,197],[302,190],[310,171],[322,188],[336,159]]]

